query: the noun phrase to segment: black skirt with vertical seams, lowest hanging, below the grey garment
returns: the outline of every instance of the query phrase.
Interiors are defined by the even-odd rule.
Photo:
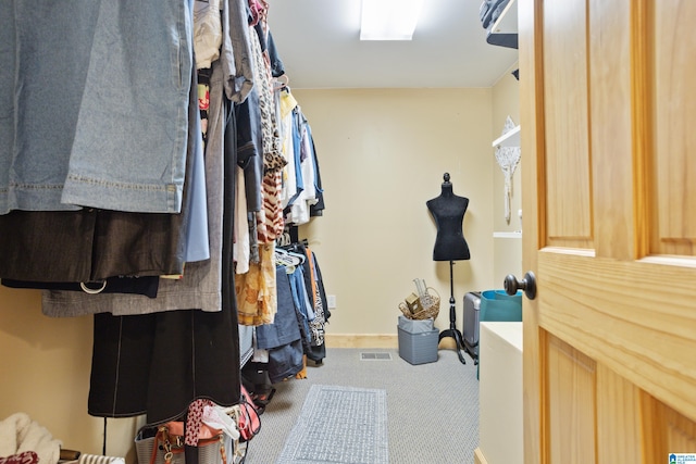
[[[179,417],[196,398],[236,404],[238,355],[234,311],[97,314],[88,413],[146,414],[148,424],[159,424]]]

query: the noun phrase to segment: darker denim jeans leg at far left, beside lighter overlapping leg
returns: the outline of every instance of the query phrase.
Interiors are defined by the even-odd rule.
[[[0,2],[0,214],[78,209],[61,193],[97,27],[91,3]]]

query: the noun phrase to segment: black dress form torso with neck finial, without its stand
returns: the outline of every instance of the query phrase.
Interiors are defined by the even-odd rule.
[[[471,258],[469,246],[462,231],[462,221],[469,206],[469,199],[453,193],[449,174],[445,173],[444,178],[440,196],[425,203],[437,225],[433,260],[469,260]]]

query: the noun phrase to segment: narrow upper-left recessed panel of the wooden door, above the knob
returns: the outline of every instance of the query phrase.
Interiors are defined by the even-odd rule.
[[[592,247],[584,0],[550,2],[544,11],[544,92],[547,121],[546,204],[549,244]],[[572,53],[559,62],[556,57]],[[570,122],[571,120],[572,122]],[[572,214],[568,214],[572,211]]]

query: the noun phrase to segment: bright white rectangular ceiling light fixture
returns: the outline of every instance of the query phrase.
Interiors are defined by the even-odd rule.
[[[360,40],[411,40],[423,0],[362,0]]]

